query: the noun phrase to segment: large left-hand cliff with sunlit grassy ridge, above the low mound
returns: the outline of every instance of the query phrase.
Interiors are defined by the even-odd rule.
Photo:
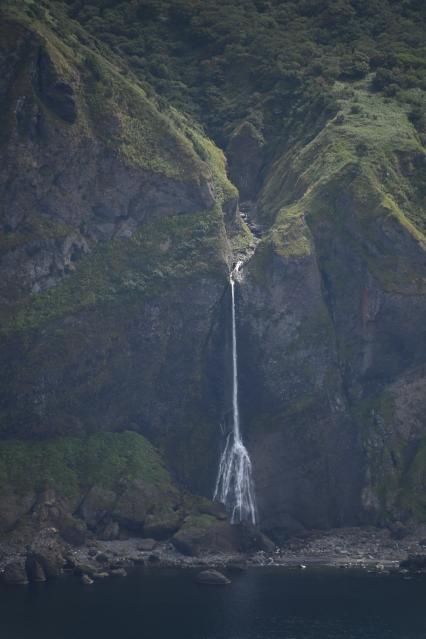
[[[206,371],[236,225],[224,158],[101,56],[4,30],[2,435],[134,428],[209,492],[223,406]]]

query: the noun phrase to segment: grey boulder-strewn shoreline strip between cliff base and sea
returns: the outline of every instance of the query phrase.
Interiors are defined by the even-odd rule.
[[[402,537],[402,538],[398,538]],[[25,548],[0,543],[0,574],[11,584],[78,575],[85,584],[96,579],[125,577],[129,570],[157,568],[217,569],[232,573],[247,568],[312,566],[365,569],[381,573],[424,572],[426,530],[390,531],[345,528],[313,531],[280,547],[252,553],[208,552],[184,555],[168,541],[131,537],[125,540],[88,540],[81,547],[64,544],[55,529],[45,529]]]

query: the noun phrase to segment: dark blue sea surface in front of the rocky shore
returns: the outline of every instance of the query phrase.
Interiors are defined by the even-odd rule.
[[[253,569],[224,587],[138,571],[0,587],[1,639],[425,639],[426,579]]]

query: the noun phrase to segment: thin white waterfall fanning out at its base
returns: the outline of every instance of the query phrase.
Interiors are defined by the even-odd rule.
[[[256,503],[252,479],[251,460],[243,444],[238,409],[238,357],[237,328],[235,317],[235,281],[242,262],[237,262],[231,271],[232,303],[232,431],[228,434],[219,462],[213,499],[225,504],[231,513],[231,523],[251,521],[256,523]]]

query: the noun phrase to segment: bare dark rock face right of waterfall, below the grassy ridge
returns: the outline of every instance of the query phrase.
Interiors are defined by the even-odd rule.
[[[260,519],[277,540],[404,520],[423,504],[412,473],[424,473],[424,242],[347,179],[344,197],[321,192],[321,214],[289,208],[239,290],[242,414]]]

